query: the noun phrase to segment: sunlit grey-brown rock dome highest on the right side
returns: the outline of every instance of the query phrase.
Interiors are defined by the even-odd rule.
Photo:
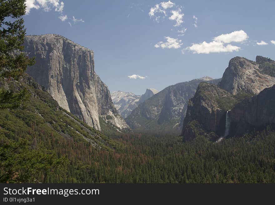
[[[257,62],[242,57],[232,58],[218,86],[233,95],[239,92],[258,94],[263,89],[273,86],[274,76],[263,71],[262,67],[266,66],[262,65],[263,60],[259,60],[260,56],[257,58]]]

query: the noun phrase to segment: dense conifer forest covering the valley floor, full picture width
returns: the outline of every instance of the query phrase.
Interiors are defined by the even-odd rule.
[[[32,130],[36,137],[24,139],[25,144],[16,134],[15,140],[1,135],[0,154],[6,158],[1,159],[1,182],[275,183],[275,132],[268,129],[220,143],[204,137],[183,143],[179,136],[112,134],[108,137],[121,144],[112,151],[45,136],[35,125]]]

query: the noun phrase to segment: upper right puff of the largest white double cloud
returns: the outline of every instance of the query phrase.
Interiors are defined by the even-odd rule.
[[[220,36],[214,37],[214,41],[217,42],[224,42],[224,43],[230,43],[230,42],[243,42],[247,40],[248,36],[247,33],[243,30],[240,31],[234,31],[232,33],[222,34]]]

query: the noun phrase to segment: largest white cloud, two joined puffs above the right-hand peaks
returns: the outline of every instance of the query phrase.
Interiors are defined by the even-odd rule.
[[[192,46],[189,46],[182,50],[184,53],[185,50],[193,51],[193,53],[220,53],[220,52],[233,52],[239,51],[241,48],[238,46],[233,46],[228,44],[230,42],[243,42],[247,40],[247,33],[244,31],[234,31],[228,34],[222,34],[220,36],[214,37],[212,42],[207,43],[203,41],[202,43],[194,43]],[[225,45],[227,44],[227,45]]]

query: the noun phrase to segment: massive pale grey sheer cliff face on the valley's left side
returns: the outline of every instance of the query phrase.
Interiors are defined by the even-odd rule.
[[[27,74],[43,85],[58,104],[100,130],[99,116],[113,115],[112,123],[129,129],[115,109],[108,87],[94,71],[94,53],[62,36],[26,36],[24,51],[35,57]]]

